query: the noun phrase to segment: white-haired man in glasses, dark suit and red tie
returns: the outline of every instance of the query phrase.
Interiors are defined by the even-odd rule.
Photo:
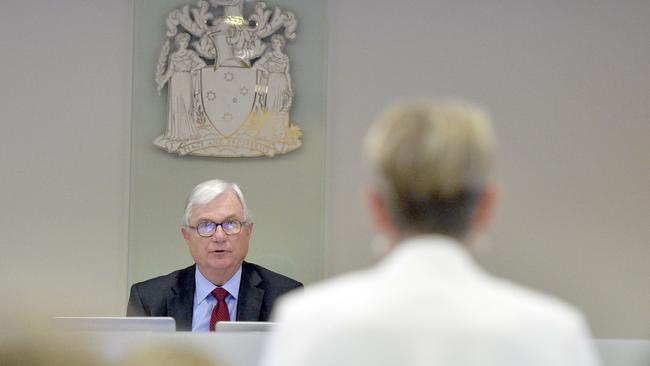
[[[239,187],[210,180],[187,200],[181,233],[195,265],[131,287],[128,316],[170,316],[177,330],[222,320],[267,321],[276,299],[302,284],[244,261],[253,222]]]

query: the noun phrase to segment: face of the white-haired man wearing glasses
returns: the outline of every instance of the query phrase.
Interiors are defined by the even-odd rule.
[[[245,219],[241,202],[232,190],[220,194],[204,206],[195,207],[189,224],[196,227],[201,221],[221,223],[229,219],[240,222]],[[248,254],[253,224],[243,225],[236,235],[227,235],[221,226],[211,237],[200,236],[190,228],[183,227],[181,231],[201,273],[208,279],[219,278],[225,282],[235,274]]]

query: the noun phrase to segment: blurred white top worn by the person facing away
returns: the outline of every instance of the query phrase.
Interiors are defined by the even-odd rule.
[[[277,305],[264,366],[598,365],[578,311],[487,274],[441,236]]]

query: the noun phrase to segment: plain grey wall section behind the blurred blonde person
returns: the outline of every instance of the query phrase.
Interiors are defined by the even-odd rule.
[[[331,1],[328,276],[373,262],[359,144],[388,102],[485,105],[503,199],[482,262],[650,338],[650,2]]]

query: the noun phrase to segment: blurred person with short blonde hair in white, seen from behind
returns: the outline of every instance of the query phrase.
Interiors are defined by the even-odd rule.
[[[370,215],[389,252],[374,268],[281,300],[262,364],[598,364],[577,310],[472,258],[497,199],[494,155],[476,107],[416,100],[384,112],[365,157]]]

